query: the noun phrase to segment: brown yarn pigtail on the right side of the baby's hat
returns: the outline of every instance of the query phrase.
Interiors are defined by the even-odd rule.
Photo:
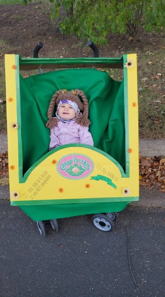
[[[84,108],[83,108],[83,114],[79,114],[79,116],[76,118],[76,123],[81,125],[81,126],[86,126],[88,127],[90,125],[90,120],[88,119],[89,115],[89,105],[88,105],[88,100],[86,95],[84,94],[83,91],[76,89],[75,90],[77,96],[81,96],[83,103],[84,103]]]

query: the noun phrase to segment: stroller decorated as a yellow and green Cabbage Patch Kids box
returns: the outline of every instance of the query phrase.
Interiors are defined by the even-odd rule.
[[[57,219],[86,214],[94,214],[95,227],[111,231],[117,213],[139,199],[136,55],[100,58],[88,45],[92,58],[38,58],[42,43],[33,58],[5,55],[11,205],[36,221],[44,237],[45,221],[57,231]],[[123,69],[122,81],[102,68]],[[19,73],[33,69],[40,73]],[[89,100],[94,147],[73,143],[49,152],[52,94],[76,88]],[[69,164],[78,172],[66,171]]]

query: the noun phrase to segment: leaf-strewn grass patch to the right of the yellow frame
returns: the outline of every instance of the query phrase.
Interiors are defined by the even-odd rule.
[[[138,56],[139,135],[141,138],[161,138],[165,133],[163,63],[164,56],[161,49]]]

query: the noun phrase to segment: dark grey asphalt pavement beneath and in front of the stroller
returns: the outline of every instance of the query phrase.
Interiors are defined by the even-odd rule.
[[[48,225],[42,238],[22,210],[0,201],[1,296],[163,297],[164,216],[127,207],[112,232],[89,215],[60,220],[58,233]]]

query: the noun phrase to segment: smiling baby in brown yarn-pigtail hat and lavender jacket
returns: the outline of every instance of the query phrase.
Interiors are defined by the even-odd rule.
[[[81,102],[80,97],[83,100]],[[52,117],[54,105],[57,105],[56,117]],[[83,114],[80,113],[84,110]],[[59,145],[69,143],[93,144],[92,135],[88,126],[88,100],[83,91],[78,89],[57,91],[50,102],[48,109],[48,122],[50,128],[49,149],[53,150]]]

